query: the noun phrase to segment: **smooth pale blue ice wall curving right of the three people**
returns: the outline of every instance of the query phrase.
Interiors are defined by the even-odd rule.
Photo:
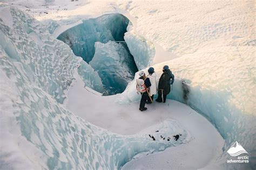
[[[184,83],[185,81],[186,83]],[[247,115],[229,103],[231,93],[228,91],[202,90],[200,86],[191,87],[190,80],[176,79],[172,93],[167,96],[190,105],[205,116],[225,139],[223,154],[219,157],[225,169],[254,169],[256,167],[256,117]],[[227,164],[230,160],[227,150],[235,141],[249,153],[250,164]]]

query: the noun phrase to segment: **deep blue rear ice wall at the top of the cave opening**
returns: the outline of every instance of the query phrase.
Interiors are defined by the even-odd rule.
[[[70,46],[77,56],[90,62],[95,53],[95,42],[124,41],[124,32],[129,20],[118,13],[83,20],[59,35],[58,39]]]

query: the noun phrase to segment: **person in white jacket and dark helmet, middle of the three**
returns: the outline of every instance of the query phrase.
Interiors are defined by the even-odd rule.
[[[157,94],[157,74],[156,72],[154,72],[154,68],[153,67],[150,67],[147,72],[149,72],[149,75],[147,75],[147,77],[149,77],[150,79],[150,82],[151,82],[151,87],[150,87],[150,96],[153,100],[154,98],[154,95]],[[147,104],[150,104],[152,103],[150,98],[147,99]]]

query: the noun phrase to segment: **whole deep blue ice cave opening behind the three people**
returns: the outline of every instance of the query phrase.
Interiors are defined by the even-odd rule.
[[[96,70],[105,89],[104,95],[122,93],[138,72],[124,40],[129,22],[119,13],[107,14],[83,20],[57,38]]]

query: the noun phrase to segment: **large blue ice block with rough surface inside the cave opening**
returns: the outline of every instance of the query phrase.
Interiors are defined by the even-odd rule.
[[[123,43],[95,43],[95,55],[89,64],[98,72],[110,95],[122,93],[138,71],[132,55]]]

